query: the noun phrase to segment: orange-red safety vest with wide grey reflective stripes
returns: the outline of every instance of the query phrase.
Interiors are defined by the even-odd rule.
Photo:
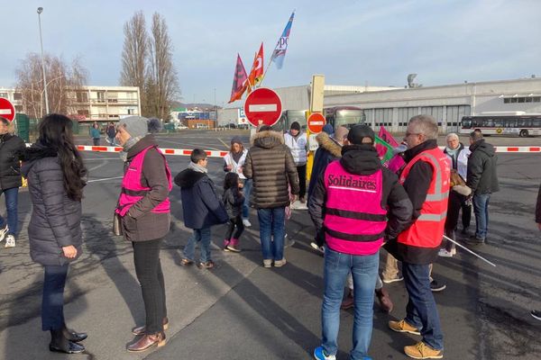
[[[419,217],[409,229],[399,234],[398,242],[414,247],[439,247],[447,217],[451,169],[446,155],[439,148],[426,150],[414,157],[404,168],[399,178],[400,184],[404,184],[417,161],[425,161],[432,166],[432,180]]]

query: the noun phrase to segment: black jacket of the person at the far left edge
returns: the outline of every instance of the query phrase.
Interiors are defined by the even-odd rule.
[[[19,165],[19,154],[23,150],[23,139],[12,134],[0,135],[0,189],[11,189],[23,184]]]

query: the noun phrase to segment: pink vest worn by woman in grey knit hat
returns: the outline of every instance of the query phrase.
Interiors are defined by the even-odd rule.
[[[124,216],[130,210],[133,204],[140,201],[147,193],[151,191],[150,187],[142,186],[141,184],[142,163],[144,161],[144,156],[151,148],[155,148],[160,153],[161,157],[163,157],[167,180],[169,183],[168,188],[169,190],[172,189],[170,168],[167,164],[167,160],[161,153],[160,149],[153,146],[143,149],[139,154],[133,157],[132,161],[128,164],[124,173],[120,199],[118,200],[118,207],[115,210],[121,216]],[[160,202],[151,211],[154,213],[170,212],[169,197],[163,202]]]

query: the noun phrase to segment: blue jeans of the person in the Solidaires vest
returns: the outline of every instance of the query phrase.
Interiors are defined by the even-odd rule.
[[[338,329],[340,328],[340,304],[344,296],[344,284],[348,273],[353,276],[353,319],[352,360],[368,356],[372,333],[374,289],[378,277],[380,253],[370,256],[348,255],[326,247],[323,305],[321,323],[322,347],[327,355],[336,355]]]

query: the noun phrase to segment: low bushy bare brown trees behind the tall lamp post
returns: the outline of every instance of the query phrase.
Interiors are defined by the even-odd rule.
[[[70,65],[59,57],[44,55],[45,76],[50,112],[76,112],[77,91],[87,83],[87,70],[75,58]],[[29,53],[15,70],[17,91],[23,94],[24,111],[32,118],[44,115],[45,95],[41,71],[41,57]]]

